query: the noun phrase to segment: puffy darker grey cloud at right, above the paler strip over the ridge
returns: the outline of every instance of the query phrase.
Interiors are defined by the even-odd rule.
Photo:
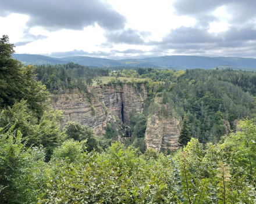
[[[248,41],[256,40],[256,30],[248,27],[237,29],[230,27],[228,31],[211,34],[206,29],[180,27],[172,30],[163,37],[161,42],[151,41],[147,45],[159,46],[162,49],[187,48],[199,49],[200,47],[238,47]]]

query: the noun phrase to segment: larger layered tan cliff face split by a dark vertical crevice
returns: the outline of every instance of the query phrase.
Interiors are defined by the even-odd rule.
[[[96,134],[104,133],[108,114],[115,116],[123,123],[129,121],[129,115],[135,116],[143,111],[144,101],[147,99],[147,92],[143,85],[139,89],[132,86],[95,86],[88,88],[92,100],[89,103],[84,94],[78,92],[61,94],[58,101],[53,103],[55,109],[62,110],[63,128],[67,122],[80,122],[95,130]],[[95,108],[95,114],[91,105]],[[108,114],[106,114],[105,109]]]

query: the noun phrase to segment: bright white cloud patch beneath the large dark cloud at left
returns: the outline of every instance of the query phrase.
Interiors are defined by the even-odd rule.
[[[42,54],[67,52],[74,49],[93,52],[98,51],[97,44],[105,42],[104,30],[98,25],[86,27],[83,31],[61,30],[56,32],[48,32],[40,27],[35,27],[31,29],[31,34],[47,35],[49,38],[17,47],[17,53]]]

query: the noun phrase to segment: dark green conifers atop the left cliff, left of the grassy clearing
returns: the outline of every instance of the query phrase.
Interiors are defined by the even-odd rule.
[[[93,84],[93,78],[108,76],[109,73],[108,69],[88,68],[74,63],[37,65],[33,72],[37,81],[41,81],[49,92],[59,94],[74,88],[85,91],[87,85]]]

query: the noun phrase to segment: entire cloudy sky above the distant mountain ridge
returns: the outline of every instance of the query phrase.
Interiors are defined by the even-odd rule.
[[[256,58],[255,0],[0,0],[16,53]]]

